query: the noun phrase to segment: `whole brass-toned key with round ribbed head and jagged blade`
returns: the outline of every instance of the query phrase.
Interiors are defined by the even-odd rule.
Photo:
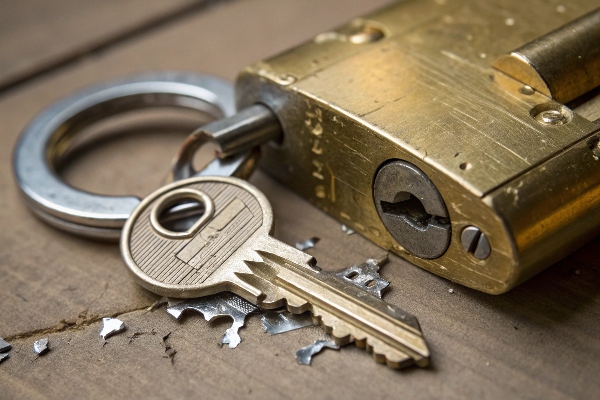
[[[161,225],[165,211],[190,200],[204,209],[193,226],[175,232]],[[262,308],[310,311],[336,344],[354,342],[393,368],[428,365],[414,316],[321,272],[312,256],[272,231],[271,205],[248,182],[190,178],[140,203],[123,228],[121,253],[137,282],[154,293],[194,298],[230,291]]]

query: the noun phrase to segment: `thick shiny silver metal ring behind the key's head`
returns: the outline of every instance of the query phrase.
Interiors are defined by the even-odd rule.
[[[158,106],[228,117],[235,113],[234,89],[229,82],[212,76],[155,73],[93,86],[48,107],[25,127],[13,155],[16,181],[31,210],[61,230],[118,240],[140,199],[73,188],[57,176],[54,165],[82,128],[107,116]],[[235,175],[245,163],[253,163],[252,158],[251,153],[244,153],[230,160],[217,159],[206,170]]]

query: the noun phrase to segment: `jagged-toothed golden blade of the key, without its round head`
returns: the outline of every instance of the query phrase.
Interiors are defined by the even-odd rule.
[[[262,261],[246,262],[253,275],[240,274],[238,278],[248,279],[251,286],[268,293],[267,303],[287,302],[291,312],[310,310],[336,343],[356,342],[390,367],[429,364],[429,349],[413,315],[330,273],[269,251],[256,253]]]

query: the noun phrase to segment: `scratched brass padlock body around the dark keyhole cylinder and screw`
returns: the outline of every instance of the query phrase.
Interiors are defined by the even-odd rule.
[[[595,234],[599,127],[577,114],[540,124],[531,110],[550,99],[521,93],[492,63],[596,6],[402,2],[248,67],[238,104],[264,103],[282,123],[283,143],[264,148],[272,176],[411,262],[502,293]],[[444,198],[452,239],[437,259],[409,254],[377,215],[372,182],[391,159],[415,164]],[[489,238],[487,259],[463,250],[468,225]]]

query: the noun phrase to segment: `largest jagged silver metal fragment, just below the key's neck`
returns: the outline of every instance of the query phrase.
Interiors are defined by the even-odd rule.
[[[167,307],[167,312],[177,319],[185,310],[198,311],[209,322],[218,317],[231,317],[233,324],[225,331],[221,344],[228,344],[233,349],[242,341],[238,331],[244,326],[246,316],[258,310],[258,307],[229,292],[188,299]]]

